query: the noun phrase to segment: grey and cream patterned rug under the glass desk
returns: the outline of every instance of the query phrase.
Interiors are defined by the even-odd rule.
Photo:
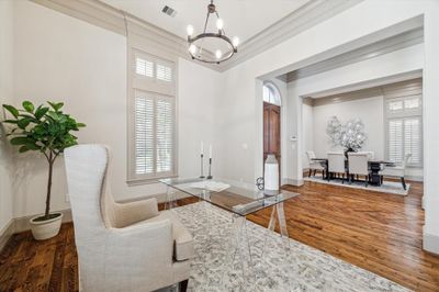
[[[248,252],[230,249],[234,225],[227,211],[209,203],[173,211],[195,242],[189,291],[408,291],[320,250],[293,239],[282,239],[279,234],[247,221],[250,261]],[[243,240],[240,246],[247,248]],[[235,255],[235,259],[230,255]]]

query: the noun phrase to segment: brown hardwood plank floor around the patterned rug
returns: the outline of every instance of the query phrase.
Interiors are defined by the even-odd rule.
[[[407,196],[306,182],[285,203],[290,236],[416,291],[439,291],[439,257],[421,250],[423,184]],[[267,226],[270,210],[248,218]],[[72,224],[35,242],[14,235],[0,255],[0,291],[77,291]]]

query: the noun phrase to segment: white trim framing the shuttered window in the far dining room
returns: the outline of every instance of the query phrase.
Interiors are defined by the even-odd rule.
[[[415,110],[405,110],[404,109],[404,103],[405,100],[408,99],[413,99],[417,97],[419,99],[419,108],[415,109]],[[392,113],[389,110],[389,104],[392,101],[398,101],[401,100],[403,102],[403,109],[401,111],[396,111],[394,113]],[[402,120],[403,121],[403,159],[405,157],[405,120],[408,119],[419,119],[419,164],[413,164],[413,162],[408,162],[406,165],[407,168],[423,168],[424,167],[424,133],[423,133],[423,128],[424,128],[424,119],[423,119],[423,93],[412,93],[412,94],[401,94],[398,97],[383,97],[383,103],[384,103],[384,133],[385,133],[385,158],[387,160],[390,160],[390,131],[389,131],[389,126],[390,126],[390,122],[393,120]]]

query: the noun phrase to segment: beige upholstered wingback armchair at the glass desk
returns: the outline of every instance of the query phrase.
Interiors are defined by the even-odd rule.
[[[65,150],[68,192],[83,291],[153,291],[182,282],[193,240],[172,211],[156,199],[120,204],[108,183],[109,149]]]

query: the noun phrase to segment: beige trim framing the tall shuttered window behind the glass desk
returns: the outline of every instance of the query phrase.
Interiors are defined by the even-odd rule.
[[[158,53],[158,52],[156,52]],[[154,75],[156,75],[156,63],[165,63],[171,65],[172,68],[172,80],[170,83],[157,80],[156,77],[147,77],[139,76],[136,74],[136,57],[142,56],[148,57],[150,56],[154,60]],[[178,156],[179,156],[179,145],[178,145],[178,59],[170,56],[164,55],[159,56],[158,54],[153,55],[146,49],[142,49],[136,45],[128,45],[127,47],[127,131],[126,131],[126,151],[127,151],[127,161],[126,161],[126,183],[128,186],[142,186],[149,183],[157,183],[160,179],[166,178],[176,178],[178,177]],[[153,80],[154,79],[154,80]],[[142,85],[140,81],[145,80],[145,83]],[[158,175],[158,176],[149,176],[149,175],[136,175],[135,170],[135,98],[136,91],[150,92],[154,96],[164,96],[164,97],[172,97],[173,98],[173,171],[167,175]]]

